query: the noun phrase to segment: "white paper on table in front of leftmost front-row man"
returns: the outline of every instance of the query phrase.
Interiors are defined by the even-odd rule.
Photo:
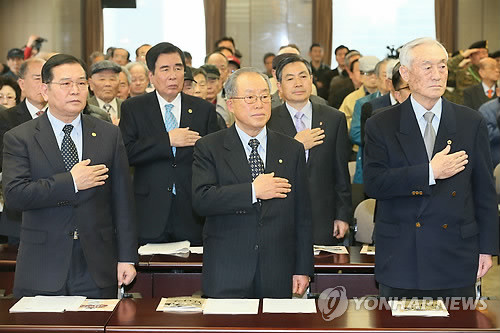
[[[35,296],[23,297],[9,309],[10,313],[76,311],[85,296]]]

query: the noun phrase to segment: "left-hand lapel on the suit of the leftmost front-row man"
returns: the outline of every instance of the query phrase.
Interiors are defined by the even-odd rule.
[[[57,144],[54,130],[50,125],[47,113],[37,118],[38,124],[36,126],[35,140],[42,148],[45,157],[55,172],[65,172],[64,162],[62,160],[61,150]]]

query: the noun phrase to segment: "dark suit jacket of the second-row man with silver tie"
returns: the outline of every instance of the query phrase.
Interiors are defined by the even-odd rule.
[[[312,103],[312,128],[325,131],[324,142],[309,151],[307,175],[311,197],[313,241],[336,245],[333,221],[352,223],[351,183],[347,162],[351,153],[345,115],[327,105]],[[286,104],[272,111],[268,128],[295,137],[297,130]]]

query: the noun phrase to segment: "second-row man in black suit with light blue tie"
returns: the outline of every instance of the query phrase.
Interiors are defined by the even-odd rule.
[[[182,93],[184,53],[159,43],[146,54],[156,90],[122,103],[120,128],[130,165],[139,242],[201,245],[203,218],[191,205],[193,146],[218,129],[215,107]]]

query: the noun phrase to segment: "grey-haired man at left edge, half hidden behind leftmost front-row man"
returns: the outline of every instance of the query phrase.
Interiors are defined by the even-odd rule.
[[[42,115],[47,102],[43,99],[40,86],[42,66],[40,58],[30,58],[19,69],[19,87],[26,97],[24,101],[8,110],[0,111],[0,172],[3,163],[3,137],[10,129]],[[9,244],[19,243],[21,212],[5,206],[0,219],[0,234],[8,237]]]

